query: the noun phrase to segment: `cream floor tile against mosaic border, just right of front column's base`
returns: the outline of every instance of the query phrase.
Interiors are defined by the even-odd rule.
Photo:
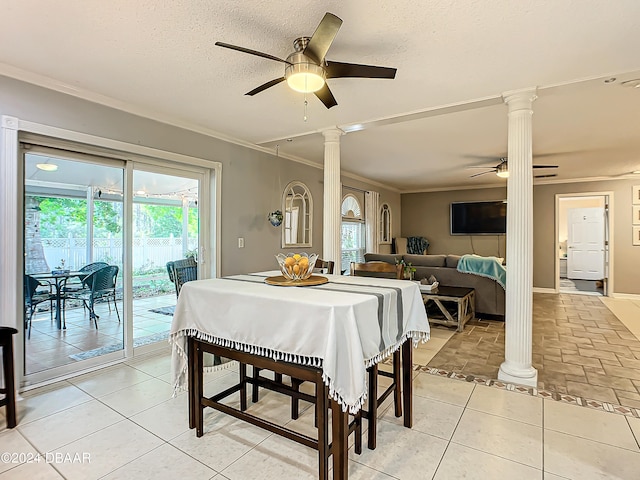
[[[544,428],[640,451],[623,415],[546,400]]]

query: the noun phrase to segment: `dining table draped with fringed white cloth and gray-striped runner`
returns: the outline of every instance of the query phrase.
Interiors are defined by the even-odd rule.
[[[412,349],[429,339],[429,322],[418,285],[403,280],[322,275],[326,283],[267,283],[279,271],[232,275],[186,283],[176,305],[172,344],[174,394],[189,390],[189,427],[203,431],[211,407],[283,435],[319,452],[318,477],[348,478],[348,435],[357,429],[367,398],[367,369],[402,349],[404,425],[412,426]],[[294,284],[295,285],[295,284]],[[202,355],[213,353],[239,365],[239,383],[204,396]],[[317,439],[274,426],[245,412],[246,366],[270,369],[316,383]],[[282,387],[274,388],[280,393]],[[240,408],[222,403],[240,392]],[[295,396],[294,392],[292,396]],[[331,438],[328,423],[331,409]],[[349,414],[356,427],[349,423]],[[357,453],[357,450],[356,450]]]

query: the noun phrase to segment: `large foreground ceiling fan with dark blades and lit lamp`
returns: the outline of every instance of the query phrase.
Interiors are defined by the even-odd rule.
[[[342,20],[332,13],[325,13],[311,37],[300,37],[293,42],[294,52],[286,60],[258,52],[249,48],[238,47],[223,42],[216,42],[219,47],[230,48],[239,52],[257,55],[258,57],[284,63],[284,77],[275,78],[245,95],[253,96],[280,82],[287,81],[289,86],[298,92],[314,93],[327,108],[338,104],[326,80],[329,78],[388,78],[396,76],[395,68],[360,65],[356,63],[332,62],[325,59],[325,55],[333,43]]]

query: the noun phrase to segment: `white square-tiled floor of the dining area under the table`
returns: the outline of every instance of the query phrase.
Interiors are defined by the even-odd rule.
[[[433,334],[416,361],[451,332]],[[167,350],[26,392],[18,427],[0,431],[0,452],[13,454],[0,456],[0,479],[317,478],[314,450],[218,412],[207,411],[205,435],[196,438],[186,395],[171,398],[170,360]],[[207,374],[205,390],[227,388],[236,376]],[[350,451],[349,478],[638,478],[639,418],[426,372],[416,372],[414,393],[414,427],[404,428],[386,403],[378,448]],[[250,408],[313,432],[312,409],[291,421],[288,400],[274,392]],[[36,453],[44,461],[21,461]]]

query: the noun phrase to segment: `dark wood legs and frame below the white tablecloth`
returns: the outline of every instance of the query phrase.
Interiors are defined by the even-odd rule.
[[[413,386],[412,386],[412,340],[408,339],[402,345],[402,365],[409,368],[402,369],[402,390],[404,406],[404,426],[411,428],[413,424]],[[264,428],[272,433],[276,433],[285,438],[293,440],[307,447],[318,450],[318,478],[327,480],[329,474],[329,456],[333,455],[333,478],[334,480],[346,480],[348,478],[348,436],[351,432],[356,432],[356,453],[362,449],[362,435],[360,430],[360,415],[356,415],[354,421],[349,423],[349,414],[343,412],[340,405],[329,398],[329,389],[322,381],[322,370],[320,368],[308,367],[287,362],[276,362],[268,357],[245,353],[228,347],[213,345],[195,337],[188,337],[188,373],[189,373],[189,428],[196,429],[196,436],[204,434],[203,410],[211,407],[220,412],[244,420],[257,427]],[[203,353],[213,353],[221,357],[237,360],[240,364],[240,379],[238,384],[213,395],[204,396],[204,375],[203,375]],[[247,384],[254,384],[254,379],[247,375],[247,365],[257,368],[271,370],[276,374],[288,375],[292,378],[313,382],[315,384],[316,419],[318,425],[318,438],[298,433],[287,429],[268,420],[256,417],[247,413]],[[296,391],[295,389],[279,382],[269,381],[261,377],[259,385],[284,393],[292,398],[308,400],[308,395]],[[221,400],[240,392],[240,410],[221,403]],[[375,402],[377,403],[377,402]],[[332,438],[329,443],[329,415],[328,409],[332,411]]]

